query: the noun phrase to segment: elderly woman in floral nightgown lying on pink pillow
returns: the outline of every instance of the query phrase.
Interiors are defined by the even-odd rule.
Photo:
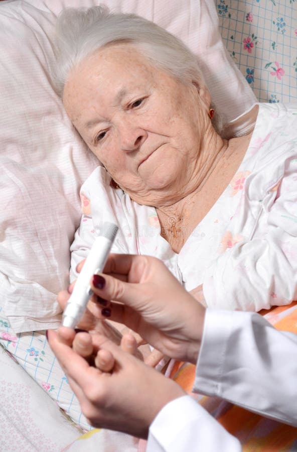
[[[120,228],[113,252],[160,258],[209,307],[259,310],[291,301],[297,110],[255,105],[254,130],[224,138],[195,56],[133,15],[65,10],[57,49],[65,109],[102,163],[81,188],[72,279],[96,229],[112,221]],[[59,405],[88,428],[56,362],[46,381]]]

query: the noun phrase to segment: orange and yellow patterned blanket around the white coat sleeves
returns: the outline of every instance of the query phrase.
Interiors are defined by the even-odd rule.
[[[279,330],[297,334],[297,301],[288,306],[275,306],[262,314]],[[291,359],[294,359],[292,357]],[[296,359],[296,358],[295,358]],[[176,363],[173,378],[186,391],[191,392],[195,366]],[[297,384],[297,376],[296,376]],[[197,396],[199,403],[210,412],[232,435],[242,443],[244,452],[279,452],[297,450],[297,428],[264,418],[216,397]],[[297,400],[292,401],[297,403]]]

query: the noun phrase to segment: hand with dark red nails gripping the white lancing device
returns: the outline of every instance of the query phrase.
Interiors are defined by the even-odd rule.
[[[123,323],[165,355],[196,364],[205,308],[162,261],[110,255],[91,286],[98,297],[88,304],[94,317]]]

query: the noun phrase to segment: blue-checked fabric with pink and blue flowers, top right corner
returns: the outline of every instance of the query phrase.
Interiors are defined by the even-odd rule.
[[[297,0],[216,0],[223,41],[261,102],[297,100]]]

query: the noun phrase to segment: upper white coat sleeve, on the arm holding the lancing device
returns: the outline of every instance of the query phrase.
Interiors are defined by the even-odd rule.
[[[297,426],[296,382],[296,334],[253,312],[206,310],[194,392]]]

